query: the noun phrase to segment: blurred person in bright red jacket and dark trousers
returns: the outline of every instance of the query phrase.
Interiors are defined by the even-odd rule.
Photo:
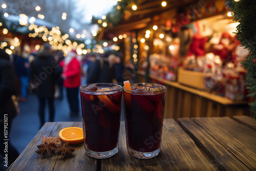
[[[63,86],[67,89],[67,96],[71,116],[77,116],[79,112],[78,106],[78,92],[81,84],[81,68],[78,60],[77,53],[71,51],[63,61],[63,73],[64,79]]]

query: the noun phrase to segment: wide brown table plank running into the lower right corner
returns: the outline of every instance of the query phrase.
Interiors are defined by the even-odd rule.
[[[256,170],[256,132],[229,117],[192,118],[251,170]]]

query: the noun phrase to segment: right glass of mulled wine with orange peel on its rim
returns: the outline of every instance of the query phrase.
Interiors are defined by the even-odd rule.
[[[137,158],[153,158],[161,148],[166,88],[154,83],[131,88],[123,88],[127,149]]]

